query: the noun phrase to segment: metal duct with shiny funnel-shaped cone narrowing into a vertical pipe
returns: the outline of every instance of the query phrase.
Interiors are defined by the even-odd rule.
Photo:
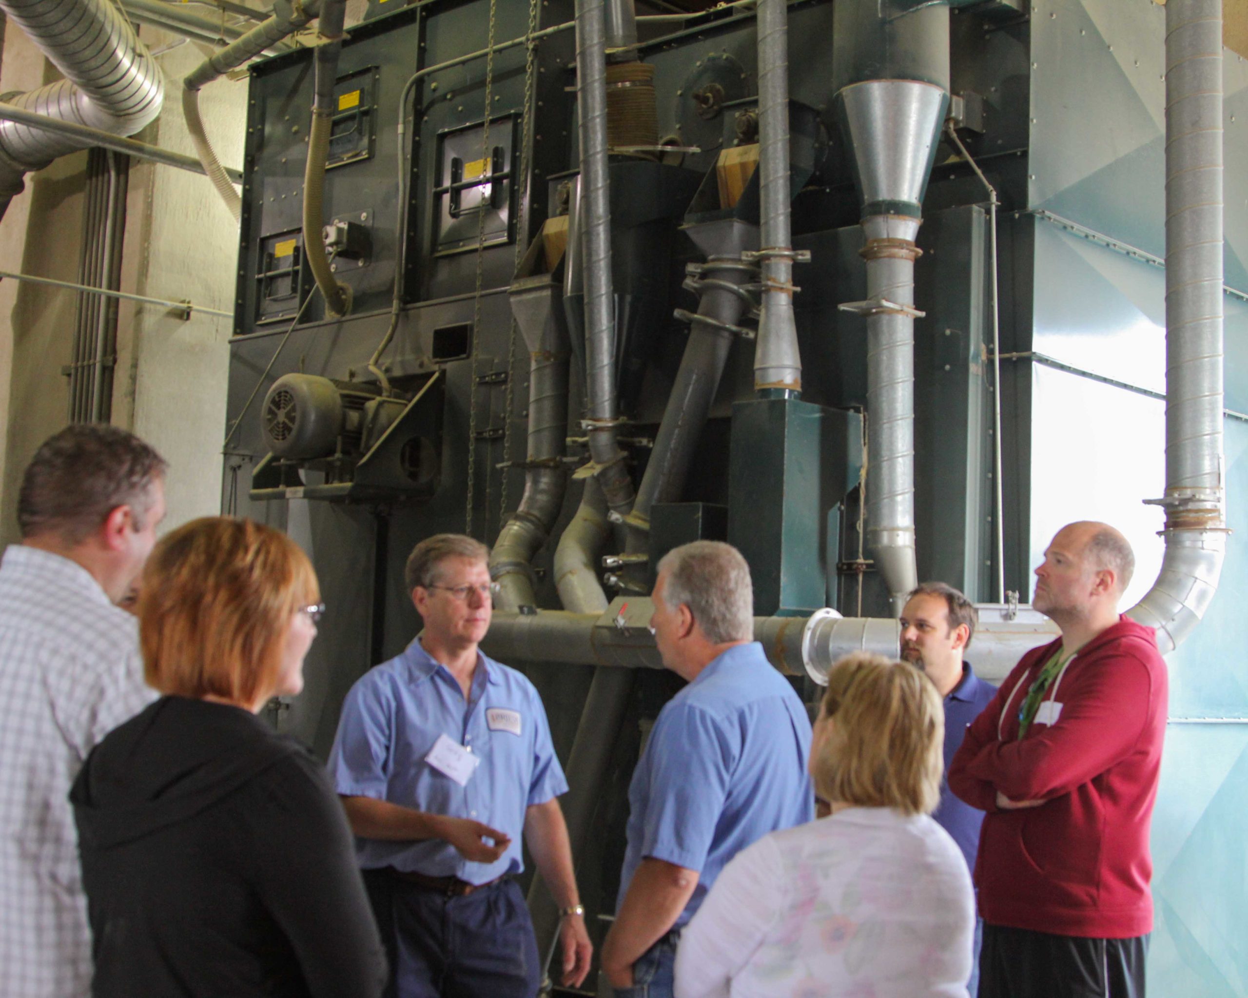
[[[915,238],[948,106],[948,7],[891,20],[870,4],[834,11],[836,107],[862,197],[866,317],[867,543],[901,613],[915,561]]]

